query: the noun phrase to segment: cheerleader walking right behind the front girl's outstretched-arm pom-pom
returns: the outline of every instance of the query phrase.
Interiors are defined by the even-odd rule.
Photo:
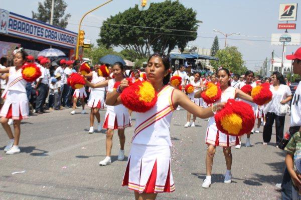
[[[219,102],[225,102],[228,99],[241,98],[247,101],[253,101],[252,97],[237,89],[230,86],[230,72],[226,68],[221,68],[217,71],[217,80],[220,83],[220,88],[222,90],[222,96]],[[237,136],[226,135],[225,133],[219,131],[216,127],[216,122],[214,117],[210,117],[209,124],[206,132],[205,139],[208,148],[206,154],[206,179],[204,180],[202,187],[208,188],[211,185],[211,171],[213,165],[213,157],[215,154],[216,146],[222,146],[223,152],[226,160],[226,174],[225,174],[225,183],[230,183],[232,174],[231,174],[231,165],[232,165],[232,153],[231,146],[234,146],[239,143]]]

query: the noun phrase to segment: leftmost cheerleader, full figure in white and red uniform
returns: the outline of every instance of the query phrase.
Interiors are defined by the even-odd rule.
[[[10,140],[4,148],[6,154],[20,153],[19,139],[21,134],[20,124],[22,119],[28,118],[28,99],[26,95],[26,80],[22,77],[22,65],[26,62],[27,53],[23,48],[17,49],[14,55],[14,65],[0,69],[0,73],[9,73],[9,80],[4,92],[6,101],[0,111],[1,123]],[[13,134],[9,119],[14,119]]]

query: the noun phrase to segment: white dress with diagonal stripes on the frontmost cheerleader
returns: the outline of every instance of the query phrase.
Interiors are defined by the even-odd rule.
[[[136,124],[122,185],[139,193],[175,190],[171,170],[170,122],[174,87],[166,85],[153,108],[136,112]]]

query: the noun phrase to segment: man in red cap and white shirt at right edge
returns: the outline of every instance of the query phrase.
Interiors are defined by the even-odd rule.
[[[301,47],[299,47],[294,54],[286,55],[286,59],[293,60],[293,73],[301,75]],[[290,127],[289,133],[290,137],[296,132],[301,131],[301,82],[299,82],[295,93],[291,99],[291,107],[290,107]],[[298,178],[299,181],[301,178]],[[295,180],[296,181],[296,180]],[[281,195],[282,199],[292,199],[292,184],[291,184],[291,176],[285,167],[282,183],[281,183]]]

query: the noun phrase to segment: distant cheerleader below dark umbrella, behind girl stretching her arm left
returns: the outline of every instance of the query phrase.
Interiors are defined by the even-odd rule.
[[[85,77],[92,77],[92,83],[100,83],[104,82],[106,80],[105,77],[99,76],[98,69],[99,65],[96,65],[94,67],[94,71],[91,71],[89,74],[85,75]],[[89,87],[90,88],[90,87]],[[90,95],[88,99],[88,107],[91,108],[90,111],[90,129],[89,133],[94,132],[94,118],[96,116],[98,125],[97,125],[97,131],[100,131],[102,126],[100,122],[100,114],[99,109],[104,108],[104,98],[105,98],[105,87],[99,87],[99,88],[91,88]]]

